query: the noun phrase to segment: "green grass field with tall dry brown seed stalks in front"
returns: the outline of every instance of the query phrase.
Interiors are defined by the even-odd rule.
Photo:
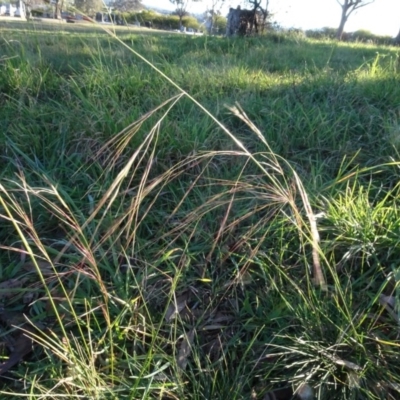
[[[398,396],[397,48],[0,30],[3,396]]]

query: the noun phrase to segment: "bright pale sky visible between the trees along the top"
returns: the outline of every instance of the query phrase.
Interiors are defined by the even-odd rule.
[[[318,29],[339,25],[341,8],[339,0],[270,0],[273,20],[286,28]],[[343,0],[341,0],[343,1]],[[174,10],[170,0],[142,0],[146,6]],[[188,11],[201,13],[207,9],[207,0],[191,2]],[[225,0],[222,12],[229,7],[243,4],[241,0]],[[242,6],[242,8],[244,8]],[[396,36],[400,29],[400,1],[375,0],[374,3],[356,10],[348,19],[345,31],[367,29],[378,35]]]

